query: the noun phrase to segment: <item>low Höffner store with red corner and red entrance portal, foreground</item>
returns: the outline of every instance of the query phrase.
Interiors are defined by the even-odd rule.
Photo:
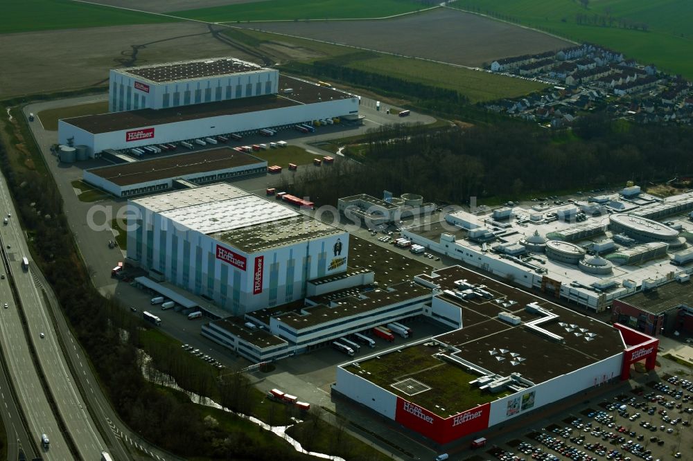
[[[333,390],[445,445],[655,366],[658,340],[459,266],[419,275],[457,330],[337,368]]]

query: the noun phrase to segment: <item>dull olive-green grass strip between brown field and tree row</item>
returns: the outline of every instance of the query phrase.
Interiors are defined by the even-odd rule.
[[[354,69],[392,75],[403,80],[421,82],[435,87],[454,89],[467,96],[471,102],[514,98],[533,91],[541,90],[545,85],[521,80],[519,78],[493,75],[486,72],[472,71],[464,67],[448,66],[437,62],[416,60],[409,57],[398,57],[382,53],[354,53],[348,46],[331,45],[297,37],[284,37],[255,30],[229,30],[229,37],[249,46],[263,50],[263,44],[283,44],[302,51],[309,51],[313,57],[298,60],[315,62],[322,59],[340,57],[340,64]],[[435,75],[435,78],[431,76]]]

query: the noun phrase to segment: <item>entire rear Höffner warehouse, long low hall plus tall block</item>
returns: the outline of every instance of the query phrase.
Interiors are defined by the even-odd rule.
[[[358,114],[358,98],[238,60],[112,71],[114,112],[58,122],[61,145],[107,149],[194,141]]]

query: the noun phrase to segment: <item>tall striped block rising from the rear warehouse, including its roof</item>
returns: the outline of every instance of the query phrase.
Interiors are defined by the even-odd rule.
[[[108,110],[166,109],[273,94],[279,71],[234,57],[111,69]]]

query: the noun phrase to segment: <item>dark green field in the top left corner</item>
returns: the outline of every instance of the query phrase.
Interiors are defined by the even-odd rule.
[[[3,0],[0,11],[0,34],[175,21],[164,16],[69,0]]]

